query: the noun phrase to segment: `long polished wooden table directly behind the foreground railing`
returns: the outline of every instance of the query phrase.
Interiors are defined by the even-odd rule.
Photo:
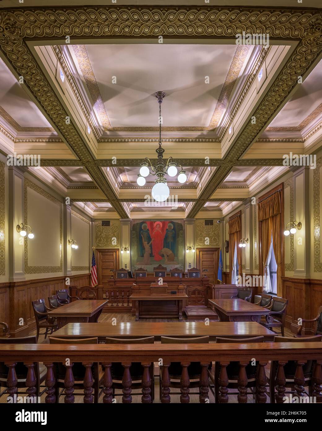
[[[274,332],[257,322],[119,322],[111,323],[68,323],[55,332],[58,338],[105,337],[139,338],[155,337],[160,341],[165,337],[202,337],[208,335],[211,340],[216,337],[248,338],[263,336],[265,341],[274,339]]]

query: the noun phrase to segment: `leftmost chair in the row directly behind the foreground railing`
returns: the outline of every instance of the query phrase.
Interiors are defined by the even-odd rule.
[[[37,344],[37,337],[33,335],[32,337],[22,337],[22,338],[0,338],[0,344]],[[1,350],[1,348],[0,348]],[[7,388],[7,378],[8,378],[9,367],[4,365],[4,362],[0,362],[0,397],[5,394],[8,390]],[[24,365],[23,362],[17,362],[15,365],[15,374],[17,376],[17,384],[16,387],[22,388],[27,387],[26,379],[27,379],[28,368]],[[40,384],[45,380],[47,368],[41,362],[36,362],[34,366],[34,373],[36,377],[36,397],[40,397],[45,390],[46,387],[43,388],[43,391],[40,392]],[[1,387],[4,387],[5,390],[1,392]],[[16,394],[24,394],[28,396],[26,392],[16,392]]]

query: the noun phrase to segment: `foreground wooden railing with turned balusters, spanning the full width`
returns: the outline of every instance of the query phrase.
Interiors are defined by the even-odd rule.
[[[66,358],[70,360],[66,365]],[[282,403],[285,393],[284,365],[290,360],[296,361],[295,391],[297,396],[304,396],[305,379],[303,365],[307,360],[316,361],[313,372],[313,392],[316,402],[322,402],[322,349],[321,342],[303,343],[253,343],[253,344],[3,344],[0,349],[0,362],[9,367],[7,387],[10,396],[17,393],[17,377],[15,365],[24,362],[28,368],[27,393],[35,394],[36,378],[34,362],[43,362],[47,368],[46,374],[46,403],[55,403],[55,374],[53,371],[55,362],[62,362],[66,368],[65,375],[65,403],[74,403],[74,377],[73,363],[82,362],[86,368],[84,377],[84,403],[93,403],[93,376],[91,366],[93,362],[99,362],[104,369],[103,379],[103,403],[112,402],[112,375],[111,363],[121,362],[124,367],[123,375],[123,403],[131,403],[131,362],[141,362],[144,373],[142,377],[142,403],[152,402],[152,384],[149,373],[151,362],[159,362],[162,359],[162,392],[161,403],[170,403],[170,378],[168,367],[170,362],[181,362],[182,375],[180,380],[181,403],[189,403],[189,375],[190,362],[201,363],[200,396],[201,403],[208,398],[207,368],[210,362],[220,362],[220,376],[215,384],[219,386],[219,402],[228,402],[228,376],[226,367],[231,361],[239,362],[238,375],[238,402],[247,403],[247,375],[245,367],[249,361],[256,359],[258,403],[266,403],[265,366],[271,360],[279,361],[278,372],[275,379],[276,402]],[[305,360],[304,360],[305,358]]]

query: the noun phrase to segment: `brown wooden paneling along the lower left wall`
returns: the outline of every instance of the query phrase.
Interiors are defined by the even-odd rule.
[[[90,274],[70,275],[70,284],[79,287],[90,284]],[[40,278],[0,284],[0,322],[9,325],[11,337],[25,337],[35,328],[31,301],[48,297],[66,288],[66,277]]]

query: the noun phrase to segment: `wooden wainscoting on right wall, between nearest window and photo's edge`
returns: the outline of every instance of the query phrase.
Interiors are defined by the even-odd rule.
[[[297,319],[314,319],[322,305],[322,280],[282,277],[282,297],[288,299],[285,327],[296,334]],[[313,325],[304,323],[302,334],[312,333]]]

